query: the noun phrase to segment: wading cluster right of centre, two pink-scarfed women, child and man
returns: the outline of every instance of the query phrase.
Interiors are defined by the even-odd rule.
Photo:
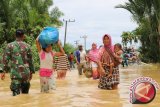
[[[85,71],[86,62],[89,62],[92,68],[93,79],[99,79],[98,88],[117,89],[119,84],[119,68],[122,63],[122,46],[117,43],[112,45],[111,36],[103,36],[103,45],[97,48],[96,43],[92,44],[92,49],[88,54],[85,53],[82,46],[75,52],[79,75],[82,75],[82,68]]]

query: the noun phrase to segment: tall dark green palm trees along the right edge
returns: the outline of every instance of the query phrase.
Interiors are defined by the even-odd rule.
[[[129,0],[116,8],[128,10],[139,25],[133,32],[140,35],[142,60],[160,62],[160,0]]]

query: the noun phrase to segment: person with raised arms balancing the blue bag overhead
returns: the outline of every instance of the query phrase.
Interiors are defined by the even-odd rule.
[[[58,46],[60,48],[60,52],[53,52],[52,45],[48,45],[46,48],[41,48],[41,45],[38,41],[39,36],[36,39],[36,46],[39,52],[40,57],[40,85],[41,92],[52,92],[55,89],[54,86],[54,77],[53,77],[53,58],[54,56],[64,55],[64,50],[58,41]]]

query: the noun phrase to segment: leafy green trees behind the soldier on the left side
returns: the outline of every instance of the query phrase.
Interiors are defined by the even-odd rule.
[[[0,3],[0,53],[7,43],[15,40],[16,29],[25,30],[25,42],[32,49],[34,65],[39,69],[39,55],[35,38],[46,26],[60,27],[63,13],[55,7],[49,13],[53,0],[1,0]],[[58,48],[57,48],[58,49]]]

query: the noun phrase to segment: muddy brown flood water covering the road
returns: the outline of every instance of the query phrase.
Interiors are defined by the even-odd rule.
[[[140,76],[151,77],[160,84],[160,65],[131,65],[120,68],[118,90],[101,90],[98,81],[69,71],[65,80],[56,80],[53,93],[40,93],[39,75],[33,75],[30,93],[11,96],[10,79],[0,80],[0,107],[160,107],[160,90],[155,99],[145,105],[129,102],[129,87]]]

